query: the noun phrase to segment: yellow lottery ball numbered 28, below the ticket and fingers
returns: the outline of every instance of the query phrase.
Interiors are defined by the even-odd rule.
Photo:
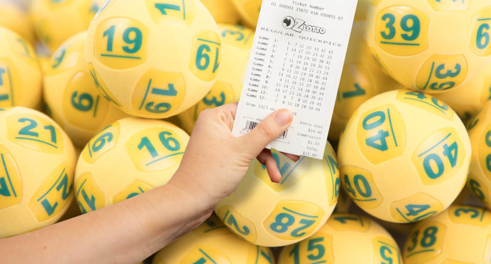
[[[327,143],[323,159],[297,162],[273,151],[282,175],[273,183],[254,160],[235,193],[215,207],[234,233],[259,246],[293,244],[314,234],[329,218],[339,195],[336,154]]]

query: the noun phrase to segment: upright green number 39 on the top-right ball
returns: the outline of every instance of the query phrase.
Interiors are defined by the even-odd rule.
[[[384,39],[393,39],[396,35],[396,29],[394,24],[396,17],[394,14],[387,13],[382,16],[382,20],[386,23],[385,31],[381,31],[380,34]],[[412,25],[412,26],[409,26]],[[406,41],[413,41],[419,37],[421,31],[421,24],[419,18],[416,15],[405,15],[400,19],[400,28],[405,32],[400,36]]]

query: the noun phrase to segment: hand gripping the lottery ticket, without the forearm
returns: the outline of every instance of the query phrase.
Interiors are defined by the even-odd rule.
[[[266,166],[271,180],[280,182],[276,161],[271,151],[264,148],[292,124],[292,112],[277,110],[248,134],[234,137],[236,110],[235,103],[208,109],[199,115],[181,165],[168,184],[188,189],[192,195],[202,191],[208,194],[209,206],[214,207],[233,193],[256,157]],[[295,155],[287,156],[299,159]]]

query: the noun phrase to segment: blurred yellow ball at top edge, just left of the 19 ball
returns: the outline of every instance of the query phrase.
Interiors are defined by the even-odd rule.
[[[39,40],[52,52],[66,39],[87,30],[107,0],[32,0],[30,15]]]

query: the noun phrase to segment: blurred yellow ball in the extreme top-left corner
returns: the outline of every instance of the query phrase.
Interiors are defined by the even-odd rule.
[[[34,29],[29,15],[18,4],[0,2],[0,27],[11,29],[29,43],[34,43]]]

